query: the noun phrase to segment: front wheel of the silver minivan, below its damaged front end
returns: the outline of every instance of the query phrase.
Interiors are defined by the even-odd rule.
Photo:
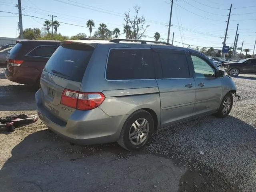
[[[220,117],[220,118],[224,118],[224,117],[228,116],[228,114],[230,113],[230,111],[232,109],[232,106],[233,106],[233,96],[232,96],[231,92],[228,92],[224,96],[224,98],[220,104],[220,107],[218,109],[218,112],[215,114],[215,116]]]

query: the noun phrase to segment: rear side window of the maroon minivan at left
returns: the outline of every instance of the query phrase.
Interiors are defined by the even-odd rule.
[[[32,52],[28,54],[28,56],[35,56],[35,57],[49,57],[52,56],[54,51],[58,48],[56,45],[45,45],[45,46],[38,46]]]

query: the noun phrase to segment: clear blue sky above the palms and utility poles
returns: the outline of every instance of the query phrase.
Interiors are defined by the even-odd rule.
[[[161,39],[166,41],[169,22],[170,0],[21,0],[22,14],[50,19],[48,15],[58,16],[56,20],[85,26],[88,19],[94,20],[96,28],[102,22],[113,30],[123,31],[124,12],[133,6],[141,7],[139,14],[146,18],[148,40],[154,40],[155,32],[159,32]],[[18,0],[0,0],[0,11],[18,13],[15,7]],[[226,44],[234,43],[236,26],[239,23],[238,46],[253,50],[256,39],[256,0],[174,0],[170,39],[174,32],[174,45],[187,47],[190,44],[220,48],[226,30],[228,12],[232,4],[230,25]],[[234,9],[233,9],[234,8]],[[23,29],[42,28],[43,19],[22,16]],[[18,15],[0,12],[0,36],[18,36]],[[94,31],[92,34],[94,34]],[[61,24],[58,29],[62,35],[73,36],[79,32],[89,34],[88,28]],[[124,38],[122,34],[120,38]],[[160,39],[160,40],[161,40]],[[163,41],[163,40],[162,40]],[[180,42],[180,43],[179,43]],[[193,46],[192,46],[193,47]],[[252,52],[249,52],[252,54]]]

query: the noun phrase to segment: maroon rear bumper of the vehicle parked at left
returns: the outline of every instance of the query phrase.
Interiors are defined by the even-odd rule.
[[[20,84],[36,84],[38,77],[41,73],[35,68],[27,68],[27,67],[12,67],[12,72],[8,69],[4,72],[5,77],[16,83]]]

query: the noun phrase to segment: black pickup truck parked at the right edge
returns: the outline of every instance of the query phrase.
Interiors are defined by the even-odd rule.
[[[239,74],[256,74],[256,58],[225,63],[224,69],[228,75],[234,77]]]

